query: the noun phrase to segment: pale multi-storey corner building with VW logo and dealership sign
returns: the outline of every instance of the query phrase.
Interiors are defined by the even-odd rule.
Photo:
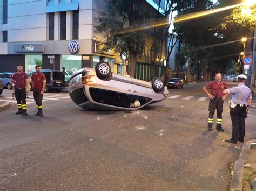
[[[0,72],[13,72],[17,64],[28,73],[35,65],[75,71],[105,60],[123,74],[129,61],[111,51],[97,52],[100,39],[93,26],[104,6],[104,0],[0,0]],[[147,56],[138,60],[138,79],[149,80]]]

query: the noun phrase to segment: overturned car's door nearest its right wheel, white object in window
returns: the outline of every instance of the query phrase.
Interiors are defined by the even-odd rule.
[[[152,100],[154,91],[150,82],[132,79],[132,101],[134,107],[140,107]],[[139,103],[138,103],[139,102]]]

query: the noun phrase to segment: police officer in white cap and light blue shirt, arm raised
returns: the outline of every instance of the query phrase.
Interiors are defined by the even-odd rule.
[[[240,74],[237,77],[238,86],[223,91],[224,94],[232,94],[232,102],[230,103],[232,138],[225,141],[233,144],[237,144],[237,141],[244,143],[245,118],[252,103],[252,91],[245,86],[246,75]]]

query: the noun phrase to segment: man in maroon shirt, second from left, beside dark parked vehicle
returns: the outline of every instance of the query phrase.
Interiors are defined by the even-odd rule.
[[[33,86],[33,96],[34,100],[37,104],[37,113],[34,116],[43,117],[43,95],[44,95],[44,88],[46,84],[45,75],[40,72],[41,66],[36,66],[36,73],[32,74],[31,82]]]

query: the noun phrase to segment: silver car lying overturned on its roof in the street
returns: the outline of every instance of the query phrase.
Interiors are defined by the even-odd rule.
[[[111,73],[109,63],[83,68],[70,77],[69,95],[83,109],[137,110],[165,100],[168,90],[159,77],[151,82]]]

